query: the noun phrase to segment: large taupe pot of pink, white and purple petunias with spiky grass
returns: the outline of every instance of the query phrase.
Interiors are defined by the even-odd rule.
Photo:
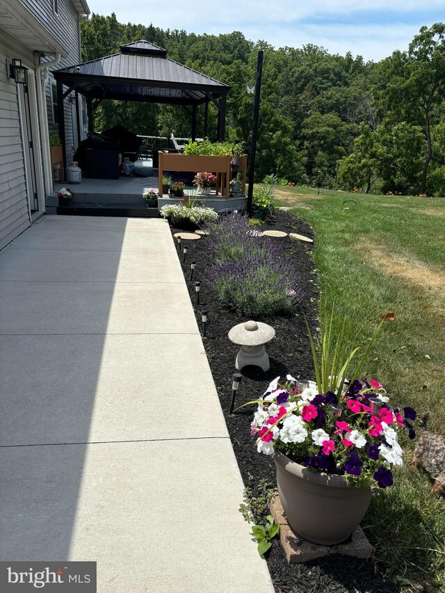
[[[403,465],[398,432],[407,428],[414,438],[416,413],[391,409],[378,381],[358,378],[378,330],[346,380],[359,348],[351,349],[346,322],[337,340],[332,316],[325,327],[320,362],[309,333],[316,381],[277,377],[256,402],[251,434],[259,453],[273,456],[291,528],[310,542],[333,545],[362,521],[371,488],[392,485],[391,467]]]

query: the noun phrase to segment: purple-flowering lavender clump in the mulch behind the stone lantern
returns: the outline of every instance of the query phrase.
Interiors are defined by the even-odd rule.
[[[291,314],[301,297],[298,274],[279,245],[238,214],[211,225],[208,241],[213,264],[205,282],[223,303],[249,317]]]

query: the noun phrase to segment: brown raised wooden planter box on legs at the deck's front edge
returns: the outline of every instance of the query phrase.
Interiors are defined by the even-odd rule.
[[[230,195],[230,161],[232,156],[209,156],[201,154],[177,154],[159,151],[159,195],[163,195],[162,177],[164,171],[172,172],[201,172],[216,174],[216,195],[228,198]],[[241,156],[241,173],[243,175],[243,193],[245,193],[245,173],[247,169],[247,155]]]

